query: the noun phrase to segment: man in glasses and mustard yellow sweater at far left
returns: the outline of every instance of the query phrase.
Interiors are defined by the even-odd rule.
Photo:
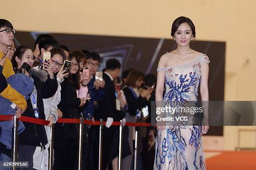
[[[8,20],[0,19],[0,74],[4,75],[6,79],[14,75],[13,65],[7,57],[11,52],[8,47],[12,47],[13,45],[14,34],[15,30],[13,29],[13,25]],[[26,110],[27,102],[25,98],[9,84],[0,83],[0,95],[14,103],[12,107],[17,110],[15,113],[17,117],[20,117]],[[4,114],[5,113],[0,110],[0,115]],[[0,154],[0,161],[10,161],[10,153],[2,143],[0,143]]]

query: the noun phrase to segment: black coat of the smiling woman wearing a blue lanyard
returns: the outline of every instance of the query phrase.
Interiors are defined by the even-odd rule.
[[[39,119],[45,120],[43,98],[46,99],[55,94],[58,88],[58,82],[56,77],[54,79],[48,77],[45,82],[42,82],[36,75],[31,75],[31,77],[34,80],[34,85],[37,90],[38,117]],[[27,106],[28,108],[22,115],[36,118],[30,99],[27,100]],[[48,143],[44,125],[28,122],[23,122],[23,124],[25,130],[19,135],[20,145],[40,146],[40,142],[43,145]]]

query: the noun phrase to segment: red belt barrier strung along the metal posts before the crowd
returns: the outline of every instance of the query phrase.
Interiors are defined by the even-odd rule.
[[[0,115],[0,121],[8,121],[13,120],[13,115]],[[21,116],[19,118],[20,121],[29,122],[29,123],[36,123],[38,125],[49,125],[50,121],[42,120],[33,117]],[[69,119],[69,118],[59,118],[57,123],[80,123],[80,119]],[[91,120],[84,120],[85,125],[100,125],[100,121],[92,122]],[[106,125],[106,122],[103,122],[103,125]],[[126,122],[125,125],[127,126],[151,126],[150,123],[131,123]],[[120,122],[113,122],[112,126],[120,126]]]

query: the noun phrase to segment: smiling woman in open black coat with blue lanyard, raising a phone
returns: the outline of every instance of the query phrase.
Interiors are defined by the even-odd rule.
[[[13,58],[13,67],[20,69],[24,62],[28,65],[33,65],[33,52],[29,47],[19,46],[17,47]],[[43,70],[41,72],[46,73],[45,80],[41,79],[40,74],[35,72],[29,72],[29,76],[33,79],[34,89],[27,100],[27,109],[23,113],[23,116],[33,117],[46,120],[44,113],[43,99],[52,97],[58,88],[58,82],[52,71],[51,62],[44,62]],[[28,73],[27,73],[28,74]],[[54,118],[49,116],[48,119],[53,122]],[[23,122],[25,131],[19,135],[19,150],[18,161],[29,161],[29,169],[33,168],[33,154],[36,147],[45,148],[48,143],[46,130],[44,125],[38,125],[34,123]],[[49,124],[51,125],[51,123]]]

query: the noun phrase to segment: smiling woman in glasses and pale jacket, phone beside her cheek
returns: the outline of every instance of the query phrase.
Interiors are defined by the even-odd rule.
[[[41,147],[36,147],[35,153],[33,155],[33,168],[36,170],[48,170],[48,148],[50,146],[50,126],[53,123],[56,123],[58,120],[58,105],[61,100],[61,82],[64,81],[65,75],[64,71],[62,70],[64,60],[66,59],[65,53],[63,50],[59,48],[53,48],[50,50],[51,52],[51,62],[52,70],[56,75],[56,79],[58,82],[58,89],[52,97],[47,99],[43,99],[44,102],[44,114],[46,120],[50,120],[50,124],[45,126],[46,135],[48,139],[48,143],[45,145],[45,149]],[[41,65],[42,66],[42,65]],[[36,66],[31,69],[30,72],[33,74],[38,75],[42,81],[47,79],[47,73],[45,71],[41,71],[41,66]]]

